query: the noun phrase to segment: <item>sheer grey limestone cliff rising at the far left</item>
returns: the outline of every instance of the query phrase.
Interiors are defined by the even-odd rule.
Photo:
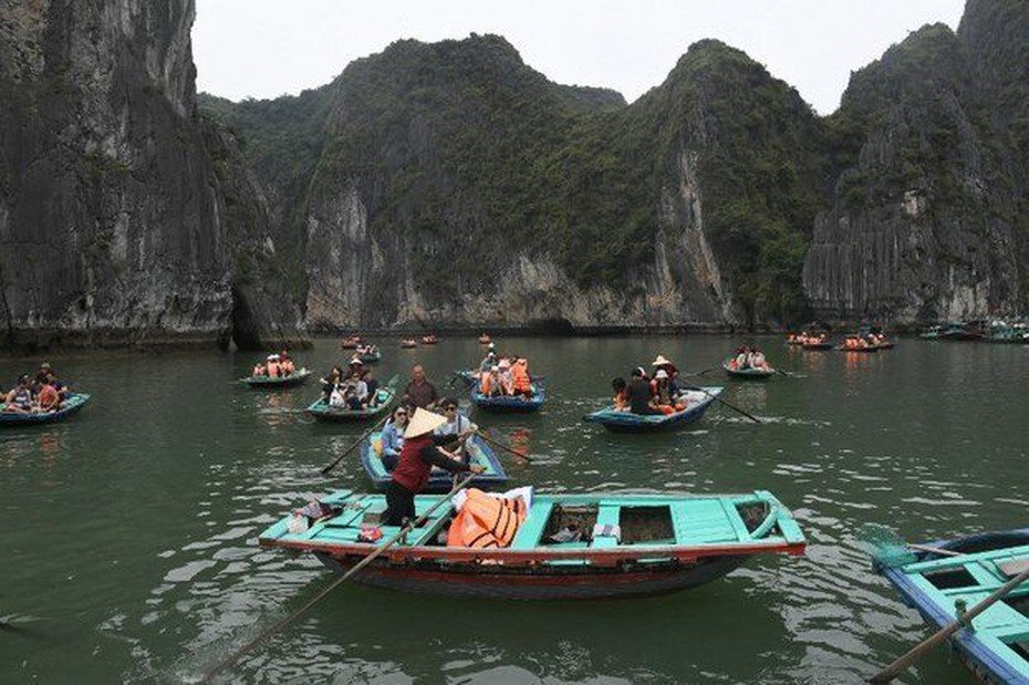
[[[191,0],[0,3],[7,343],[295,335],[287,286],[249,263],[274,249],[261,193],[196,108],[193,19]]]

